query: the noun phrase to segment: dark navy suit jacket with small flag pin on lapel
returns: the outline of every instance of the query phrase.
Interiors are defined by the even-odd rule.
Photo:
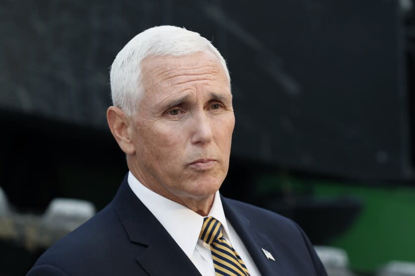
[[[303,231],[271,211],[221,197],[262,276],[327,276]],[[180,226],[177,226],[180,227]],[[275,261],[267,259],[262,248]],[[200,276],[124,178],[114,200],[52,245],[27,276]]]

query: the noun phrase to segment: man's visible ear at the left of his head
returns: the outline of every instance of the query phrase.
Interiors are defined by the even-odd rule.
[[[124,111],[116,106],[110,106],[107,110],[107,121],[111,133],[116,139],[120,148],[125,154],[133,154],[134,144],[132,143],[129,128],[132,127],[131,119],[125,115]]]

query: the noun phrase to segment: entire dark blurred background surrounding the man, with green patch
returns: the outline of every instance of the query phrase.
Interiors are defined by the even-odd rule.
[[[155,25],[227,60],[225,196],[290,217],[329,276],[415,275],[412,0],[2,0],[0,276],[112,200],[109,67]],[[278,234],[278,233],[276,233]]]

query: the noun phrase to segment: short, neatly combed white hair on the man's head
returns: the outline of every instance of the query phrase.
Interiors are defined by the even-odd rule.
[[[201,51],[215,54],[230,83],[226,61],[219,51],[198,33],[175,26],[159,26],[134,36],[117,54],[110,72],[113,104],[132,116],[144,94],[141,62],[146,57],[184,56]]]

